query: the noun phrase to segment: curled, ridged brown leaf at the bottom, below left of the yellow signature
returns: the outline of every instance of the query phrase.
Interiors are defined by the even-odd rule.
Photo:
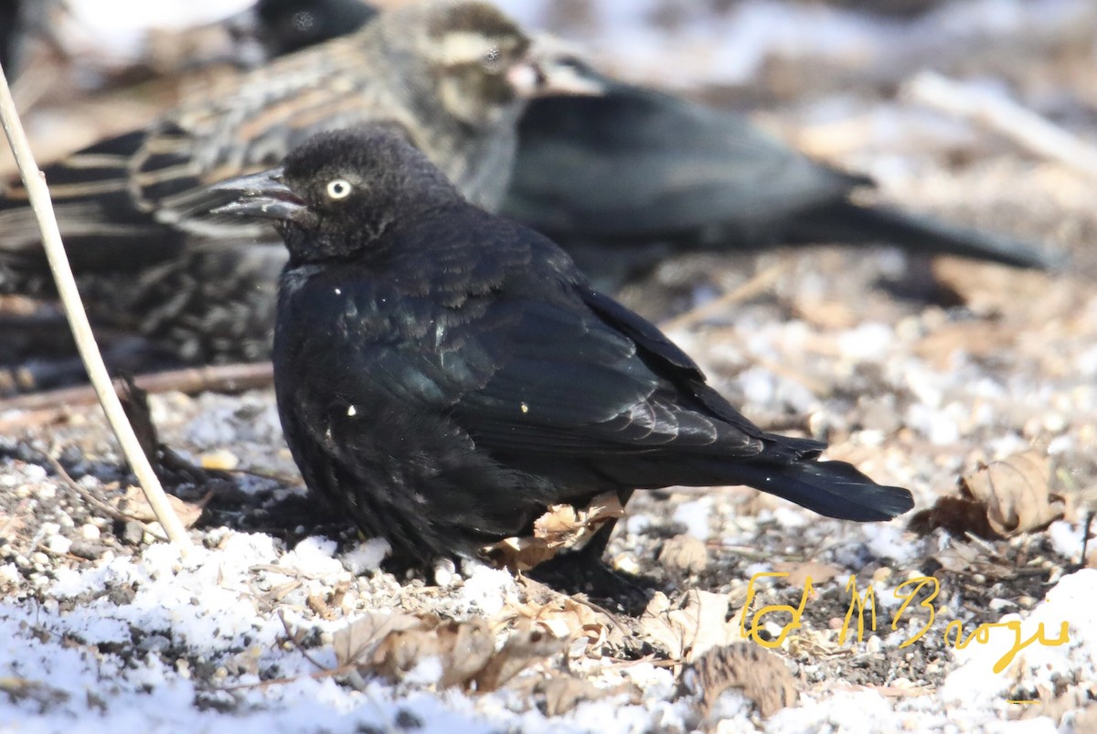
[[[701,693],[706,716],[721,693],[731,688],[742,689],[762,718],[794,705],[799,698],[784,662],[758,645],[713,647],[687,668],[682,679]]]

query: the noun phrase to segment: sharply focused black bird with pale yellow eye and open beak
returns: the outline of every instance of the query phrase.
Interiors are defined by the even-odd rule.
[[[274,384],[308,488],[402,555],[473,554],[546,506],[745,484],[816,512],[913,506],[766,433],[544,236],[467,203],[383,129],[316,136],[220,208],[273,221]]]

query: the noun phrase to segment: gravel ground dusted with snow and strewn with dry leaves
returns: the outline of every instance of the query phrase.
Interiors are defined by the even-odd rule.
[[[601,49],[619,72],[765,101],[762,124],[873,174],[879,197],[1072,256],[1051,275],[884,249],[691,256],[624,294],[749,417],[828,440],[830,458],[909,487],[915,512],[861,526],[744,488],[668,489],[630,502],[607,554],[622,578],[472,564],[425,577],[303,499],[269,391],[165,393],[151,419],[182,460],[169,484],[196,545],[181,557],[98,409],[0,413],[0,727],[1097,731],[1097,171],[897,95],[930,54],[1094,144],[1097,13],[732,3],[778,41],[751,47],[742,79],[697,64],[664,78],[630,63],[625,31],[703,56],[731,21],[655,4]],[[973,41],[934,55],[946,29]],[[694,310],[751,281],[769,285]],[[770,573],[789,576],[757,576]],[[853,585],[873,589],[875,631],[867,608],[863,636],[855,612],[842,641]],[[1000,626],[958,648],[958,625],[968,641],[984,623]]]

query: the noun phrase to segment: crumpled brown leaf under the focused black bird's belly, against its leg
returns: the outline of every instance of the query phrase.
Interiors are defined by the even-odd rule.
[[[623,516],[617,493],[599,495],[579,510],[572,505],[553,505],[533,523],[531,538],[506,538],[486,550],[508,568],[529,571],[585,542],[604,522]]]

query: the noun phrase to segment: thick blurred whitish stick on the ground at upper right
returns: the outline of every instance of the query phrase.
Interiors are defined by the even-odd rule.
[[[931,71],[906,82],[903,94],[935,110],[974,121],[1037,155],[1097,177],[1097,146],[1011,100],[973,93],[970,86]]]

